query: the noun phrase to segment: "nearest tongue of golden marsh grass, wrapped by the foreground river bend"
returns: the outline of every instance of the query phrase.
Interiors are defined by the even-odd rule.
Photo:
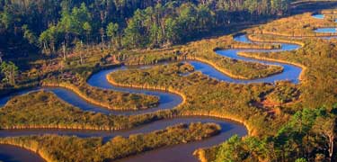
[[[44,135],[10,137],[0,143],[31,149],[49,162],[53,161],[107,161],[129,157],[155,148],[173,146],[206,139],[221,130],[215,123],[177,124],[164,130],[134,134],[129,138],[116,136],[107,143],[102,138]]]

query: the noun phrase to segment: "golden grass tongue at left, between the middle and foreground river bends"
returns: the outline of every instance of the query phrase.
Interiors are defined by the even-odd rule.
[[[58,99],[55,94],[36,92],[14,97],[0,109],[1,129],[122,130],[169,117],[173,112],[115,116],[84,112]]]

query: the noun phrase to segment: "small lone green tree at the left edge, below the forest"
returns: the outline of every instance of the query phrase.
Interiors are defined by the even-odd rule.
[[[3,62],[1,64],[1,72],[4,75],[4,82],[15,85],[15,78],[18,75],[19,68],[13,62]]]

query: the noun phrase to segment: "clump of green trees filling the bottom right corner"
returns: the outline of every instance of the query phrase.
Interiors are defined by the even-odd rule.
[[[304,109],[295,113],[272,137],[239,139],[234,136],[228,139],[217,147],[217,157],[214,160],[328,161],[333,159],[331,142],[336,135],[333,132],[336,128],[335,121],[336,116],[326,108]]]

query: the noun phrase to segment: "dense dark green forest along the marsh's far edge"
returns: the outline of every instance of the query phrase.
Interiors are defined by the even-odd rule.
[[[288,5],[287,0],[2,0],[0,44],[23,54],[25,44],[46,53],[92,43],[160,47],[257,16],[287,14]]]

